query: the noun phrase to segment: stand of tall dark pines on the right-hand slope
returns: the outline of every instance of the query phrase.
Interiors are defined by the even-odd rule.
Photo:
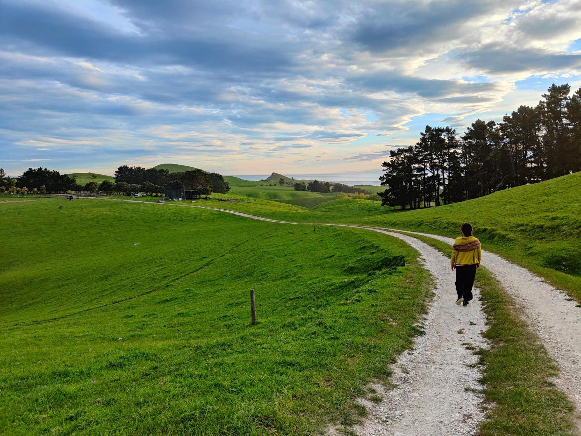
[[[382,205],[417,209],[464,201],[581,170],[581,88],[548,88],[502,123],[476,120],[462,137],[426,126],[415,146],[383,162]]]

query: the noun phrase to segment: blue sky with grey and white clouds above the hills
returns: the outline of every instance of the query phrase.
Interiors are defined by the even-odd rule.
[[[0,166],[379,169],[581,86],[581,0],[0,0]]]

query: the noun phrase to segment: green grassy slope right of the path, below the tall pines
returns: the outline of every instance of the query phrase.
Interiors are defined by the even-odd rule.
[[[581,173],[439,208],[354,221],[450,237],[469,221],[483,248],[548,278],[581,301]]]

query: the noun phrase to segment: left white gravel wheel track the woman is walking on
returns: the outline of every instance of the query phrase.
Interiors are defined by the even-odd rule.
[[[417,337],[414,349],[402,353],[392,366],[397,388],[374,385],[383,401],[362,401],[370,413],[353,430],[360,436],[476,434],[485,418],[480,408],[483,396],[465,388],[482,388],[478,367],[468,366],[478,363],[478,358],[462,343],[487,346],[482,338],[486,317],[479,290],[474,290],[474,299],[467,307],[457,306],[456,274],[446,256],[408,235],[369,230],[400,238],[417,249],[435,279],[435,296],[423,323],[426,334]]]

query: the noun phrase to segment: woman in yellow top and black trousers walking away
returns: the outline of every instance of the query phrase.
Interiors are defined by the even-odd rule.
[[[457,305],[468,306],[472,299],[472,285],[476,276],[476,268],[480,266],[482,249],[480,241],[472,235],[472,224],[464,223],[460,227],[462,236],[454,241],[454,252],[450,266],[456,269]]]

